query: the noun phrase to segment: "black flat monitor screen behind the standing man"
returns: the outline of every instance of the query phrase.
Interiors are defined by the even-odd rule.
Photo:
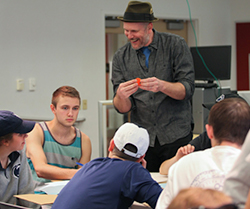
[[[209,71],[217,80],[231,79],[231,46],[198,46],[197,48]],[[195,80],[213,83],[216,79],[205,67],[196,47],[190,47],[190,51],[194,61]]]

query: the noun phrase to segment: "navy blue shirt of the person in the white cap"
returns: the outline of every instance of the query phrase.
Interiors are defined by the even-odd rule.
[[[147,202],[155,208],[162,191],[140,163],[97,158],[85,164],[59,193],[52,209],[127,209]]]

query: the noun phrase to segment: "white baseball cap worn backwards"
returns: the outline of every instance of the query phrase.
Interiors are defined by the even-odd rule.
[[[149,135],[146,129],[139,128],[133,123],[123,124],[114,135],[115,146],[126,155],[140,158],[149,146]],[[137,148],[136,152],[125,149],[127,144],[132,144]]]

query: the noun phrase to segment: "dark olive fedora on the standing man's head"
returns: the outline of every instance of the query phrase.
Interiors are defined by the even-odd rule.
[[[117,17],[123,22],[155,22],[152,5],[149,2],[130,1],[123,17]]]

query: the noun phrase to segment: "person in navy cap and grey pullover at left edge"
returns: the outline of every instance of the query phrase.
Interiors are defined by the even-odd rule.
[[[34,193],[32,175],[23,147],[25,138],[35,126],[13,112],[0,110],[0,201],[33,206],[13,197]]]

